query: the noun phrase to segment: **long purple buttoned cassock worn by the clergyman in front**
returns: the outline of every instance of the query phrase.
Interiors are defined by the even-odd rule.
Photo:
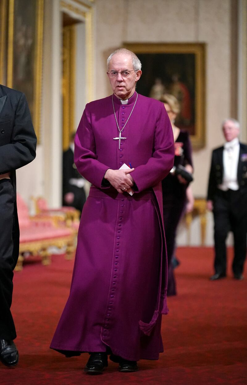
[[[113,95],[120,130],[134,106]],[[92,183],[83,207],[68,301],[51,348],[67,356],[105,352],[132,361],[163,352],[167,259],[160,181],[174,162],[164,104],[138,95],[120,141],[112,96],[86,105],[75,137],[75,164]],[[135,193],[119,194],[107,169],[132,165]]]

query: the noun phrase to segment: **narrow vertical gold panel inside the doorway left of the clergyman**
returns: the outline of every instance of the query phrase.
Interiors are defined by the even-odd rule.
[[[63,27],[63,150],[70,144],[75,114],[75,25]]]

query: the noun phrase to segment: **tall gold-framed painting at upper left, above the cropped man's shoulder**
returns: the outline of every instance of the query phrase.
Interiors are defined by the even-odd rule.
[[[43,0],[9,0],[7,86],[25,93],[40,142]]]

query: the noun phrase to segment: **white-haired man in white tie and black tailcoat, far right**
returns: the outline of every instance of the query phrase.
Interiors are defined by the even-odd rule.
[[[214,214],[215,274],[226,276],[227,234],[234,235],[234,278],[242,280],[246,258],[247,233],[247,145],[239,143],[239,122],[226,119],[222,124],[224,146],[212,152],[207,208]]]

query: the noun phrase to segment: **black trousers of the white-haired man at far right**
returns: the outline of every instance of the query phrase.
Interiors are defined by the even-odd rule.
[[[247,191],[217,190],[214,197],[215,273],[225,274],[227,264],[226,238],[229,231],[234,236],[232,271],[242,274],[246,258]]]

